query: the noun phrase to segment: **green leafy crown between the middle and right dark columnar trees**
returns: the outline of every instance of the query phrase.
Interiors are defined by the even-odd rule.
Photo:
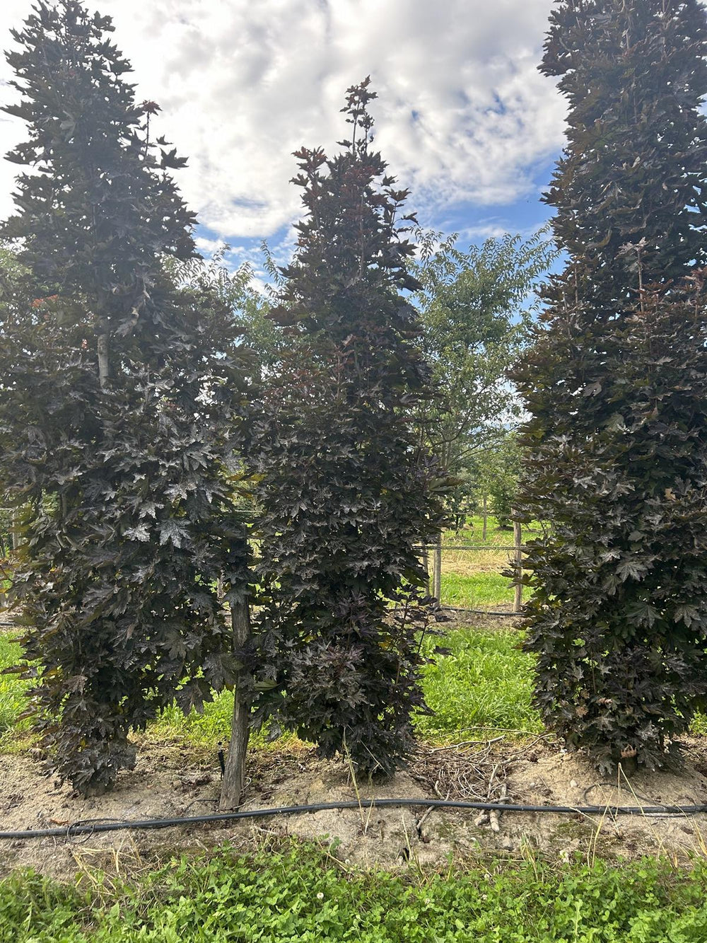
[[[502,448],[518,422],[518,394],[508,370],[527,342],[542,279],[557,255],[547,233],[488,239],[465,251],[456,236],[420,233],[414,301],[436,395],[420,402],[421,434],[460,481],[450,494],[478,493],[477,469]]]

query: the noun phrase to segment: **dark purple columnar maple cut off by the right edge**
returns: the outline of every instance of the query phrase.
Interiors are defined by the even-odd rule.
[[[562,0],[569,103],[547,201],[567,252],[516,376],[536,701],[603,767],[663,762],[707,695],[707,21],[697,0]]]

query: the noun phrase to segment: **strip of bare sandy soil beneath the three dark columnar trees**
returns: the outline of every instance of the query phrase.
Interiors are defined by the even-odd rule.
[[[385,783],[355,784],[343,763],[320,760],[304,747],[255,752],[243,807],[246,809],[360,799],[360,808],[297,816],[2,841],[0,873],[32,867],[58,877],[90,866],[108,871],[152,867],[174,853],[207,850],[229,841],[238,849],[295,835],[322,841],[344,864],[387,869],[447,866],[487,852],[505,855],[549,852],[561,860],[575,852],[588,858],[668,853],[678,860],[707,854],[707,816],[576,815],[505,813],[499,831],[475,824],[475,812],[419,807],[370,807],[376,797],[466,798],[501,796],[509,802],[562,805],[656,805],[707,802],[707,740],[687,745],[680,769],[640,772],[604,783],[584,756],[565,753],[547,739],[525,745],[506,740],[451,748],[420,747],[409,769]],[[217,810],[220,769],[214,755],[189,756],[173,744],[141,747],[136,769],[119,777],[110,794],[77,797],[59,786],[41,760],[0,756],[0,827],[4,831],[59,827],[83,820],[174,818]]]

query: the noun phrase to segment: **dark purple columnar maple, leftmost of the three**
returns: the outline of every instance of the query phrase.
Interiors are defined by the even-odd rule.
[[[82,793],[134,762],[127,736],[176,696],[234,681],[216,584],[244,592],[222,476],[243,411],[231,315],[179,290],[194,217],[154,143],[107,17],[40,3],[8,60],[27,125],[3,236],[26,274],[2,307],[0,488],[24,508],[12,588],[32,705],[55,769]],[[38,674],[37,674],[38,672]]]

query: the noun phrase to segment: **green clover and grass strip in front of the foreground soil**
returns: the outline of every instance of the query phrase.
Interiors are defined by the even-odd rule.
[[[0,883],[13,943],[703,943],[707,868],[488,862],[424,874],[335,867],[311,846],[182,857],[90,890],[17,873]]]

